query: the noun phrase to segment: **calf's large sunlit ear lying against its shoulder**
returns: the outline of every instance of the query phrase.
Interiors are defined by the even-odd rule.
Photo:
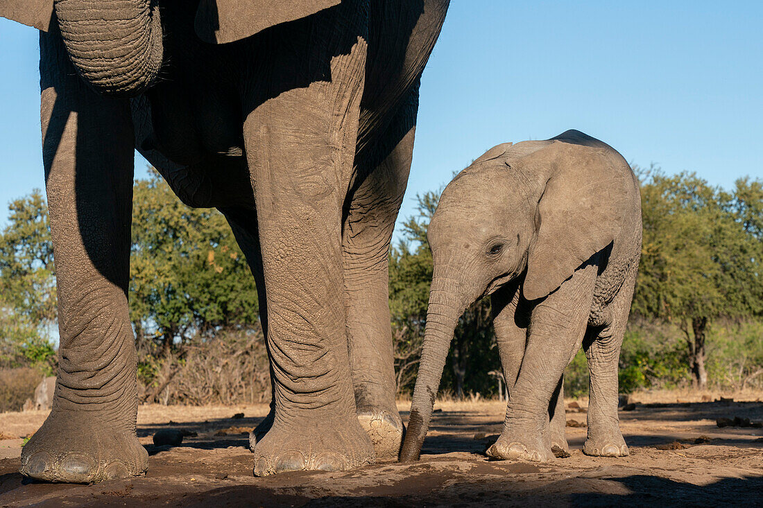
[[[628,188],[598,150],[559,143],[538,202],[536,238],[530,243],[523,295],[546,297],[575,269],[620,233]]]

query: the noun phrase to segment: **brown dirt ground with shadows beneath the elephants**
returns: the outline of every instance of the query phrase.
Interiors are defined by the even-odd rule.
[[[146,477],[89,486],[25,481],[18,474],[22,440],[2,439],[0,506],[763,506],[763,428],[716,425],[735,416],[737,425],[763,421],[761,394],[718,398],[637,395],[629,401],[635,408],[620,411],[629,457],[583,455],[586,429],[568,426],[571,457],[545,464],[487,460],[504,403],[438,402],[414,465],[263,478],[252,475],[246,432],[266,406],[144,406],[138,436],[150,454]],[[585,422],[586,405],[567,401],[568,425]],[[408,405],[400,409],[407,419]],[[232,418],[236,413],[243,417]],[[46,415],[0,414],[0,433],[26,436]],[[167,428],[196,435],[176,447],[153,445],[153,433]]]

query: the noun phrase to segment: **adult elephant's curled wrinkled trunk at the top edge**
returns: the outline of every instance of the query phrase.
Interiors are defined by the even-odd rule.
[[[156,0],[56,0],[66,50],[96,91],[130,97],[162,66],[162,26]]]

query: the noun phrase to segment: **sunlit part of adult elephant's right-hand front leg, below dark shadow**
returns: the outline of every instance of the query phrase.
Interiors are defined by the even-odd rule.
[[[280,93],[244,125],[275,388],[272,428],[254,447],[258,476],[374,459],[349,370],[341,241],[364,63],[356,41],[332,59],[330,81]]]

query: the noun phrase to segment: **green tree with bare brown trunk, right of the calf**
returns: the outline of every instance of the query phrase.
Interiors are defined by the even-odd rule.
[[[644,237],[633,310],[675,323],[694,386],[707,386],[707,327],[761,312],[760,182],[726,193],[691,173],[642,183]]]

